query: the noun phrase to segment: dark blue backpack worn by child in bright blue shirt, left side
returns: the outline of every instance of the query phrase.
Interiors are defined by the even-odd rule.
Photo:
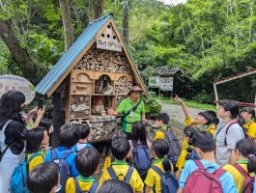
[[[71,176],[71,169],[70,165],[66,161],[66,158],[72,153],[71,152],[65,152],[64,155],[61,157],[58,157],[56,149],[51,150],[51,159],[55,163],[58,164],[60,168],[60,183],[62,185],[62,188],[58,191],[58,193],[65,193],[66,189],[66,182]]]

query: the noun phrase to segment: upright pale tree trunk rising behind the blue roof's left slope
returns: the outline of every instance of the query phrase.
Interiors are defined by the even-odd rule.
[[[65,35],[65,50],[67,51],[72,44],[72,25],[71,25],[71,11],[69,0],[59,0],[62,21],[64,26],[64,35]]]

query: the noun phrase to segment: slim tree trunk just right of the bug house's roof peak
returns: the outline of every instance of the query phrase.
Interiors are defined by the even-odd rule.
[[[128,11],[129,0],[125,0],[123,4],[123,38],[128,46]]]

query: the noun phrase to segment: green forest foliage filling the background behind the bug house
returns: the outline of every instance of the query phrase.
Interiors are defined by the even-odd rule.
[[[76,40],[92,17],[90,6],[98,1],[68,2]],[[185,97],[212,102],[214,80],[256,69],[254,0],[188,0],[178,6],[156,0],[126,2],[128,46],[138,69],[184,69],[179,84]],[[114,14],[122,32],[123,4],[100,1],[103,10],[95,10]],[[65,52],[59,1],[0,0],[0,27],[5,29],[0,31],[1,73],[21,75],[37,84]],[[225,83],[218,87],[220,98],[252,102],[255,85],[255,75]]]

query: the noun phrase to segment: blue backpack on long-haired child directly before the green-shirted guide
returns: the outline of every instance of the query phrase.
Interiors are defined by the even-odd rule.
[[[140,177],[146,178],[147,172],[151,168],[151,153],[149,149],[143,144],[138,144],[133,149],[132,157],[134,168],[136,168]]]

